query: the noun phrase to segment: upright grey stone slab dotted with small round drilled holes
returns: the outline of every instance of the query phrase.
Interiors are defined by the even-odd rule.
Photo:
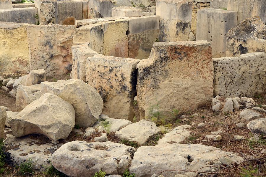
[[[237,11],[201,9],[197,14],[197,40],[212,44],[213,57],[225,57],[226,33],[237,24]]]

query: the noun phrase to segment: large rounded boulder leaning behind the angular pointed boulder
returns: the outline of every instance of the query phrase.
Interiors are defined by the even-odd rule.
[[[103,109],[103,100],[99,93],[82,80],[42,82],[42,93],[58,95],[75,109],[75,125],[90,127],[99,118]]]

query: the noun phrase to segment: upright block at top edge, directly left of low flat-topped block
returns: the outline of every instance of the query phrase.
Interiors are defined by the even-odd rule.
[[[88,9],[88,18],[101,18],[112,16],[111,0],[90,0]]]

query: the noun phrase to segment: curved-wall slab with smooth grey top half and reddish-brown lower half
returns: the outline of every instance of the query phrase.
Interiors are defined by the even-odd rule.
[[[142,16],[128,18],[129,58],[147,59],[158,41],[160,16]]]

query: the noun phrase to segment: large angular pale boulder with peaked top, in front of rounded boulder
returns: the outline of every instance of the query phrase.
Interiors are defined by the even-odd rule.
[[[37,133],[56,142],[67,138],[74,128],[75,110],[60,97],[46,93],[27,105],[9,124],[16,137]]]

